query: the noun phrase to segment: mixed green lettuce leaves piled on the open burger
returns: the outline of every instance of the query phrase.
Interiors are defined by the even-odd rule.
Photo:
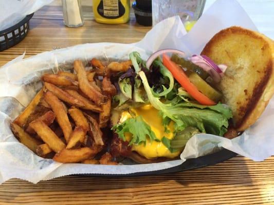
[[[115,96],[119,106],[131,99],[133,103],[150,103],[159,110],[162,124],[167,126],[174,122],[174,139],[163,136],[162,143],[171,152],[184,147],[188,139],[197,133],[223,136],[227,132],[231,110],[224,104],[215,106],[199,105],[180,85],[174,81],[170,71],[159,59],[154,60],[151,68],[145,67],[138,52],[130,54],[135,74],[127,73],[119,79],[121,92]],[[132,144],[145,143],[147,137],[157,140],[155,133],[141,116],[132,117],[112,128],[121,139],[124,132],[132,133]]]

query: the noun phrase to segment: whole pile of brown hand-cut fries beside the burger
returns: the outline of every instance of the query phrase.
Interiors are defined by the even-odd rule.
[[[108,125],[116,94],[108,74],[127,69],[131,61],[119,63],[119,68],[112,64],[112,70],[95,58],[90,63],[93,69],[86,71],[82,62],[75,60],[77,74],[44,74],[43,89],[11,123],[14,135],[37,155],[54,155],[53,160],[63,163],[117,164],[109,153],[100,161],[94,157],[107,147],[100,128]]]

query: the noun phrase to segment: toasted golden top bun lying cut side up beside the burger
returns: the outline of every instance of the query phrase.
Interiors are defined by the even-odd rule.
[[[230,27],[215,34],[202,54],[228,66],[218,88],[237,131],[260,117],[274,93],[274,42],[263,34]]]

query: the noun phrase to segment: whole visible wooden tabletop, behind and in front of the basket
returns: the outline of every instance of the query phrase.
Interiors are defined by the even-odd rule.
[[[26,51],[26,57],[54,48],[95,43],[133,43],[150,29],[129,24],[101,25],[84,7],[84,27],[66,28],[61,7],[36,12],[30,32],[17,46],[0,52],[0,66]],[[0,204],[274,204],[274,156],[253,162],[236,156],[218,165],[147,177],[66,176],[37,185],[19,179],[0,186]]]

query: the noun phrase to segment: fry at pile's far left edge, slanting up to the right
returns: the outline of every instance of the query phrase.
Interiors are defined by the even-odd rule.
[[[31,100],[30,104],[25,110],[14,120],[14,123],[20,127],[24,127],[29,115],[34,111],[35,107],[39,104],[41,97],[43,96],[43,89],[40,90],[35,97]]]

